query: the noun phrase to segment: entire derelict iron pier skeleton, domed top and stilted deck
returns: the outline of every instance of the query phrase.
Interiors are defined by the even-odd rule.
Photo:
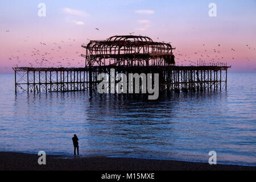
[[[96,91],[97,75],[115,73],[159,73],[159,89],[167,92],[226,89],[226,64],[176,66],[172,46],[143,36],[112,36],[91,40],[86,49],[84,68],[16,67],[15,93]],[[128,79],[127,79],[128,80]],[[110,85],[110,79],[109,79]],[[110,91],[110,86],[109,86]]]

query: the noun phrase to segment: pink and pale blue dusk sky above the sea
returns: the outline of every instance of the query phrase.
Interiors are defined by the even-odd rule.
[[[171,42],[177,65],[214,61],[256,72],[256,0],[1,0],[0,17],[0,73],[16,65],[83,67],[82,45],[130,32]]]

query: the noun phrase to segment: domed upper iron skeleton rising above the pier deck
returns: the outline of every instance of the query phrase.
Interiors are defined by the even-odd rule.
[[[86,49],[85,67],[174,65],[171,44],[153,42],[147,36],[112,36],[106,40],[91,40]]]

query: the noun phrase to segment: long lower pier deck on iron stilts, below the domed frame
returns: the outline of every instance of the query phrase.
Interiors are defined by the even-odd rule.
[[[167,92],[226,89],[227,66],[94,66],[86,68],[14,68],[15,92],[97,90],[99,73],[159,73],[159,89]],[[127,78],[128,80],[128,78]],[[110,85],[110,79],[109,85]],[[109,86],[110,92],[110,86]]]

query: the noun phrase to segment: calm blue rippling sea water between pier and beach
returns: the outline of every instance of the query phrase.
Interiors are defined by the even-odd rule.
[[[118,156],[256,166],[256,74],[229,73],[228,91],[147,97],[14,93],[0,75],[0,151]]]

